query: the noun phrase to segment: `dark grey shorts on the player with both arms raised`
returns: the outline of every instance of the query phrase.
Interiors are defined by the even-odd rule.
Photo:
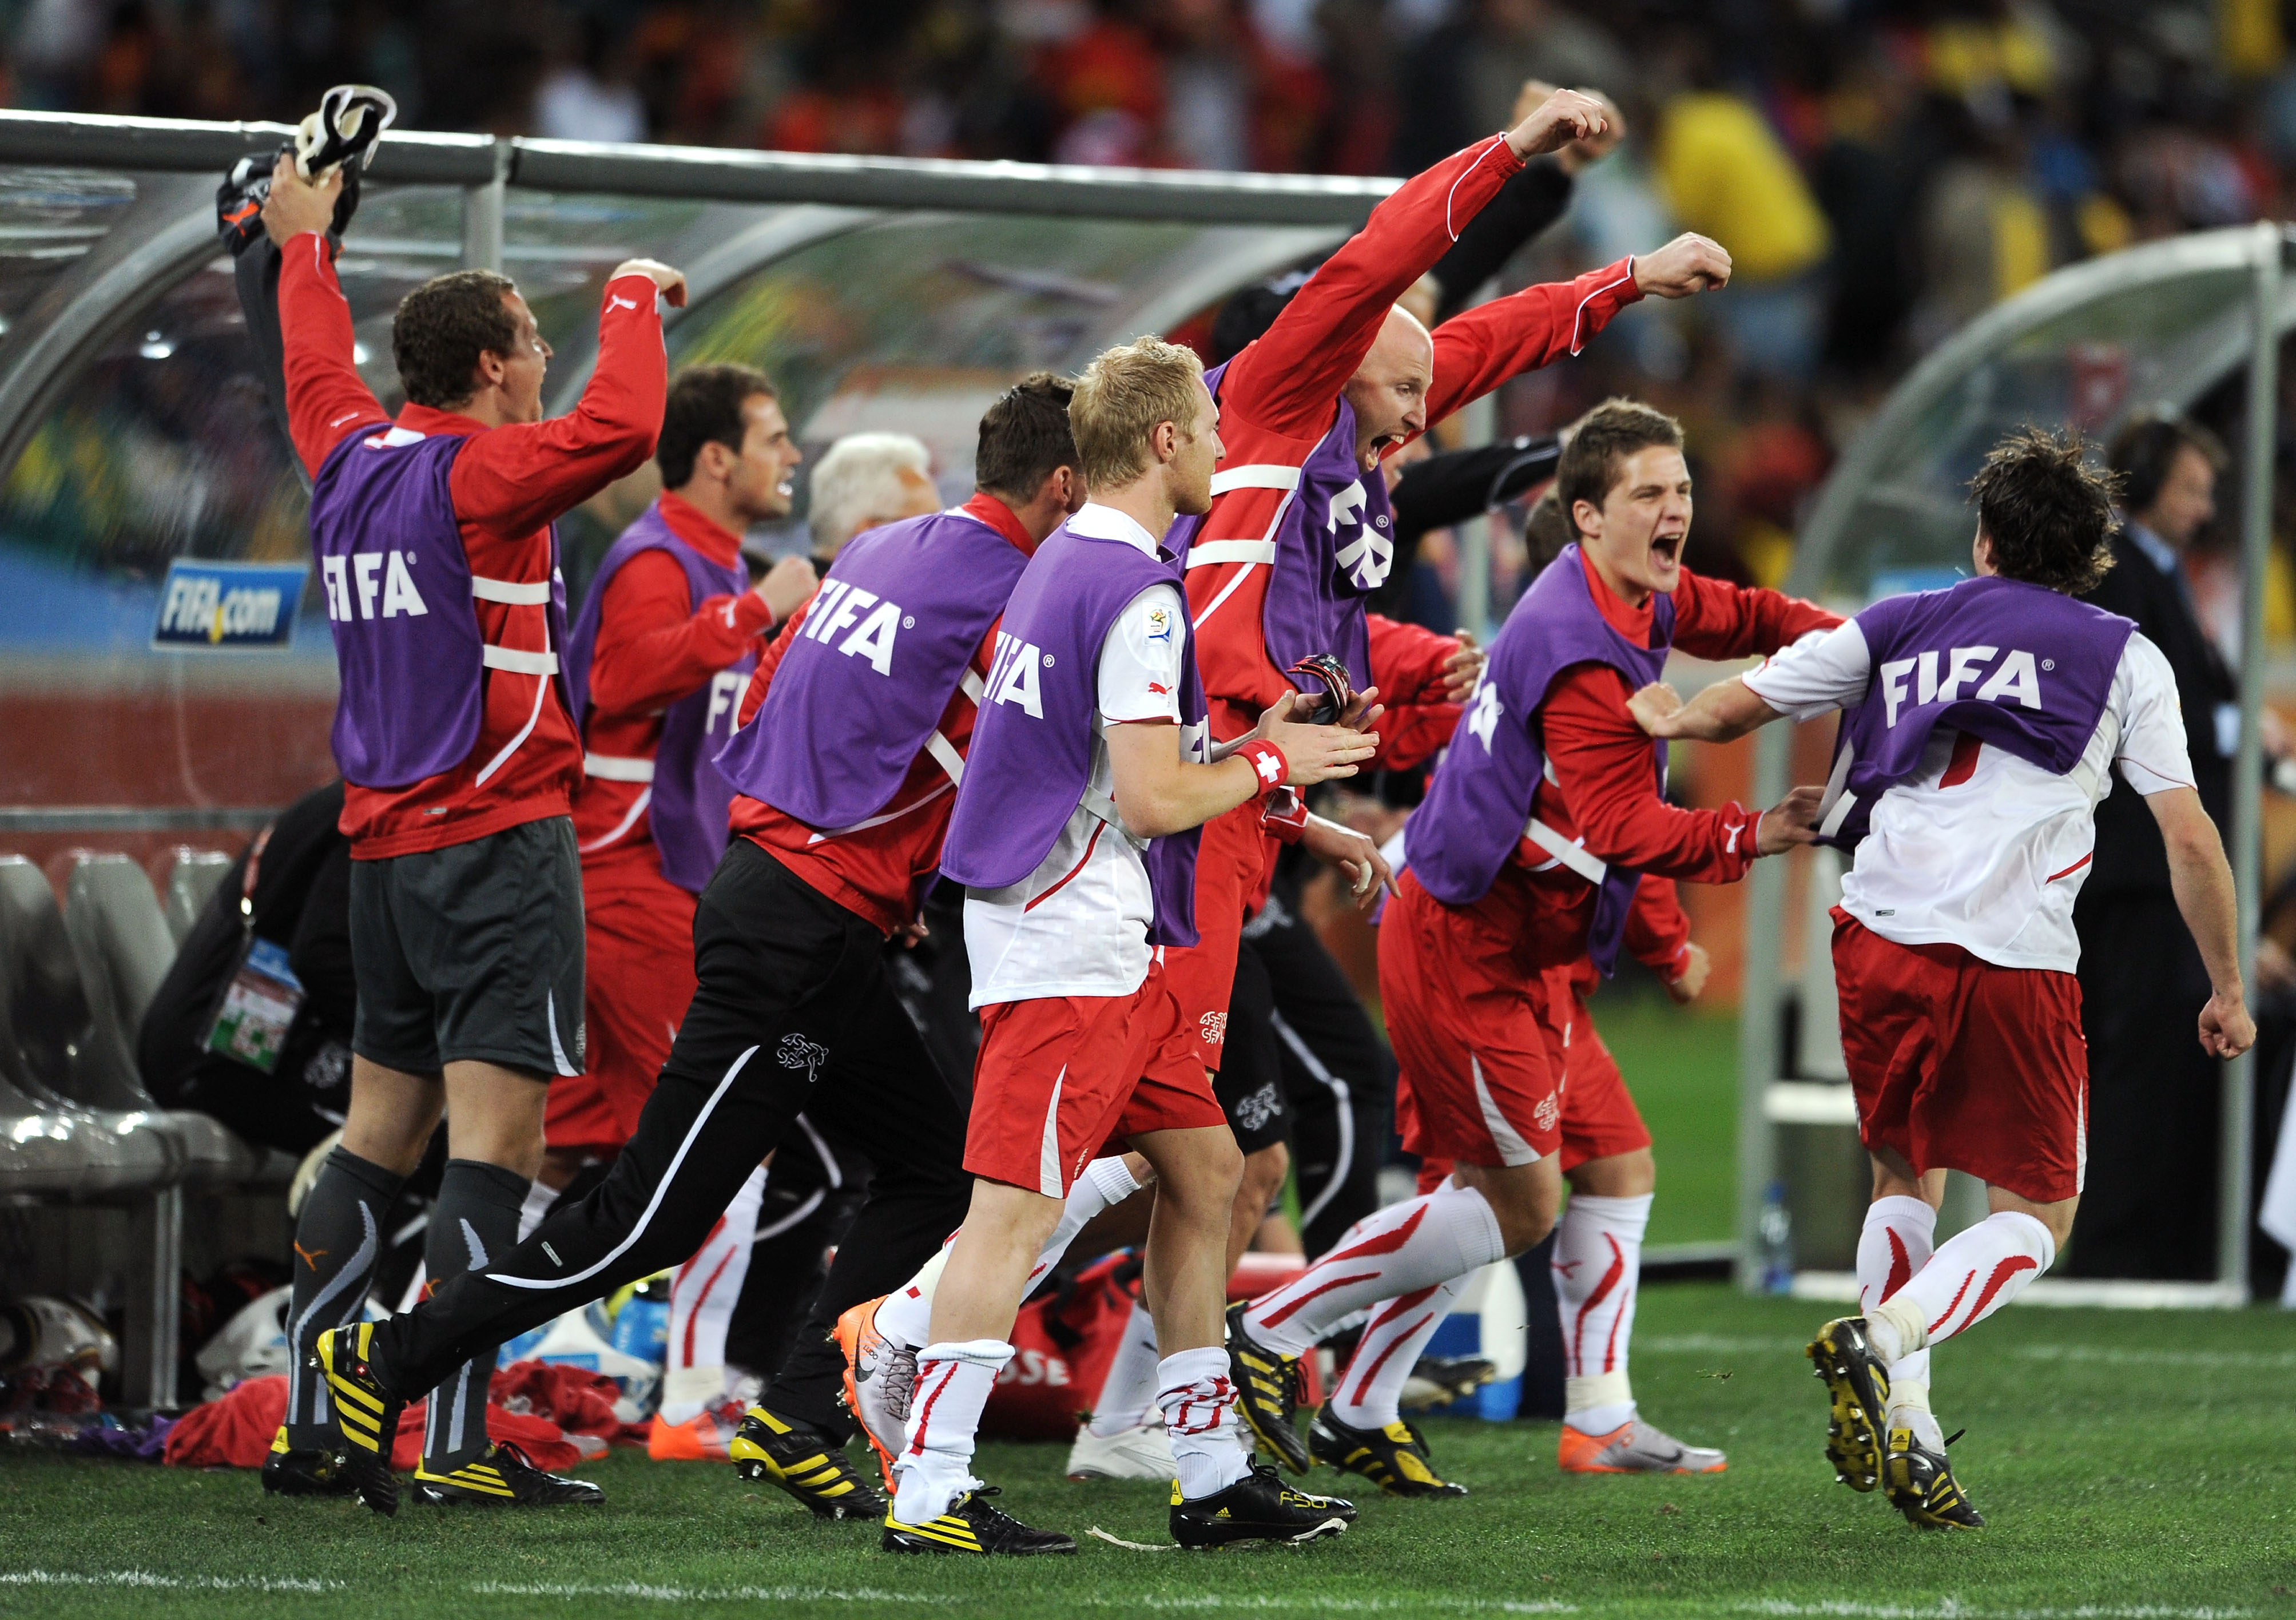
[[[581,856],[572,817],[351,863],[351,1051],[436,1074],[581,1074]]]

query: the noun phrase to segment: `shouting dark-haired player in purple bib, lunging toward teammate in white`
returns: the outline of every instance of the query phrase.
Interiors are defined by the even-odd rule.
[[[1325,1407],[1320,1450],[1382,1485],[1442,1489],[1424,1446],[1391,1418],[1394,1393],[1456,1290],[1554,1225],[1566,1051],[1543,973],[1582,957],[1607,973],[1644,872],[1731,883],[1756,856],[1812,838],[1816,789],[1761,817],[1738,805],[1667,805],[1665,755],[1626,714],[1669,647],[1740,659],[1837,622],[1807,601],[1683,567],[1690,470],[1681,443],[1671,418],[1628,399],[1577,422],[1557,473],[1577,544],[1506,617],[1412,815],[1410,872],[1380,925],[1380,994],[1403,1072],[1403,1143],[1453,1161],[1456,1175],[1359,1221],[1300,1280],[1231,1313],[1242,1411],[1293,1469],[1311,1459],[1293,1427],[1300,1354],[1345,1315],[1394,1301],[1366,1329],[1343,1381],[1359,1413],[1389,1420],[1348,1423]],[[1616,1097],[1630,1113],[1623,1088]],[[1600,1436],[1607,1464],[1683,1466],[1685,1448],[1635,1416],[1623,1384],[1577,1391],[1593,1397],[1591,1411],[1575,1413],[1582,1423],[1612,1420]]]

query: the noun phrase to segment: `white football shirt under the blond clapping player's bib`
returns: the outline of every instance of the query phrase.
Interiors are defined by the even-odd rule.
[[[1086,505],[1077,535],[1123,539],[1150,558],[1155,539],[1123,512]],[[964,955],[974,1007],[1042,996],[1130,996],[1148,978],[1155,899],[1141,847],[1088,805],[1114,808],[1109,725],[1180,721],[1180,590],[1150,585],[1116,615],[1100,645],[1088,789],[1035,872],[964,897]],[[1185,739],[1182,739],[1185,741]]]

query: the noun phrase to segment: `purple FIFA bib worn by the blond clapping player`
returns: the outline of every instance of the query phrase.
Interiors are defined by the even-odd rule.
[[[1061,525],[1029,560],[996,631],[987,698],[941,849],[948,879],[1010,888],[1052,851],[1091,787],[1100,649],[1118,615],[1150,585],[1180,594],[1180,748],[1187,760],[1203,760],[1196,629],[1171,553],[1150,558],[1130,542]],[[1196,943],[1199,831],[1150,840],[1141,851],[1155,895],[1150,945]]]

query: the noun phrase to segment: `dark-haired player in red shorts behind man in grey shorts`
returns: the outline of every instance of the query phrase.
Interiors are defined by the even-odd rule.
[[[714,755],[762,636],[813,592],[813,564],[783,558],[755,587],[742,535],[790,512],[799,461],[774,383],[746,365],[670,379],[654,447],[664,493],[606,548],[574,633],[567,688],[581,721],[574,792],[588,925],[585,1074],[551,1090],[544,1179],[563,1161],[611,1159],[638,1124],[654,1074],[693,1000],[693,897],[726,854],[732,782]],[[670,1368],[647,1450],[726,1457],[726,1326],[748,1271],[765,1173],[680,1269]],[[537,1193],[537,1198],[544,1198]]]

